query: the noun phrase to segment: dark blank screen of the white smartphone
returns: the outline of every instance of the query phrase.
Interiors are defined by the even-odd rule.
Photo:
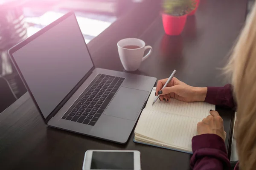
[[[133,152],[93,152],[93,170],[134,170]]]

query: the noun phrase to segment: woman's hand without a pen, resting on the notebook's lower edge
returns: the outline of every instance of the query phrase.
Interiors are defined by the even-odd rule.
[[[225,141],[227,133],[224,131],[223,119],[217,111],[210,111],[210,114],[202,122],[198,122],[198,135],[216,134]]]

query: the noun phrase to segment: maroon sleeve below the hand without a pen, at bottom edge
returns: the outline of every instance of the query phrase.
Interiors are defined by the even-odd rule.
[[[193,170],[230,169],[224,140],[215,134],[203,134],[192,138],[193,156],[190,166]]]

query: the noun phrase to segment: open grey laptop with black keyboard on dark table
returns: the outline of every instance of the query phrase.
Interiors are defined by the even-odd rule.
[[[156,82],[95,68],[72,12],[9,49],[9,55],[47,125],[122,144]]]

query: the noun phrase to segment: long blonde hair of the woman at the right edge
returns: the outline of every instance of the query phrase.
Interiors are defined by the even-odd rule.
[[[237,102],[236,140],[240,170],[256,169],[256,4],[226,66]]]

